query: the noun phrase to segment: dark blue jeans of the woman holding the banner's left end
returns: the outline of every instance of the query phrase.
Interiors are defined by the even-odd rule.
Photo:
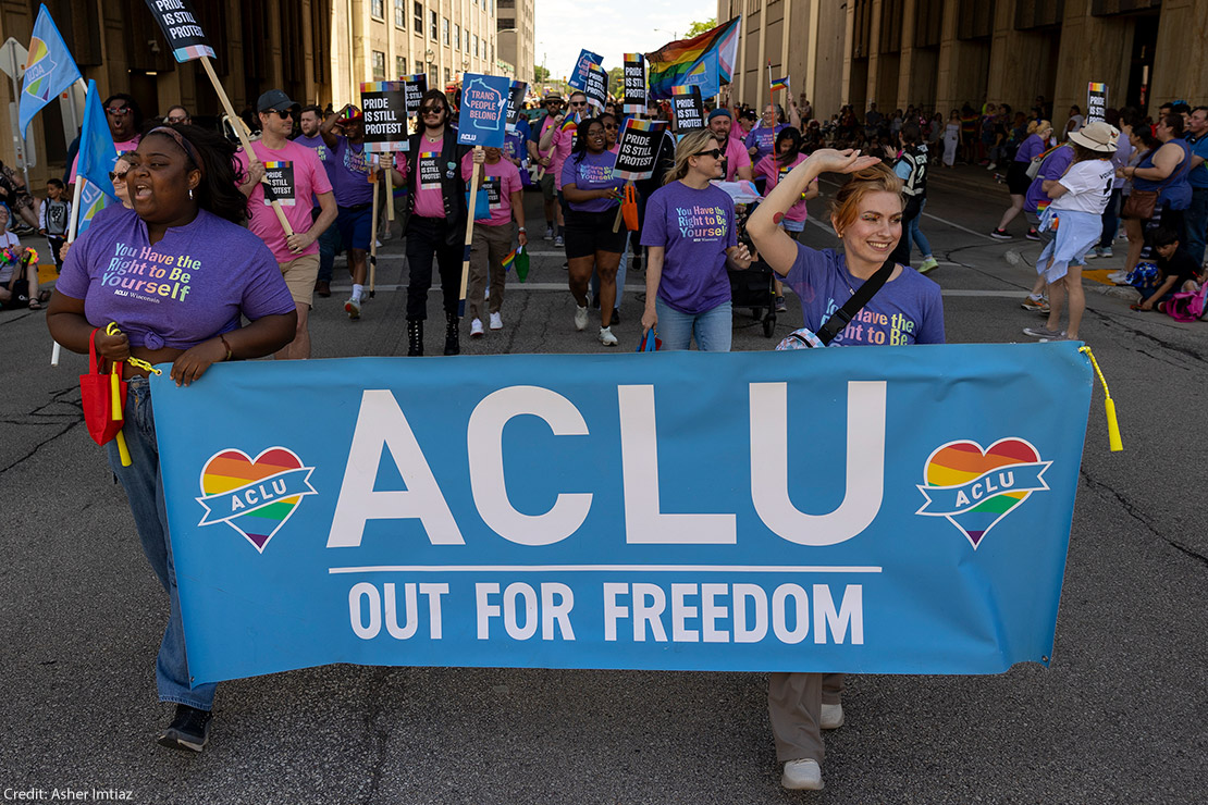
[[[163,477],[159,473],[159,448],[155,441],[155,413],[151,410],[151,386],[146,378],[132,378],[126,393],[126,447],[132,463],[122,466],[117,441],[106,445],[109,466],[126,490],[134,515],[134,527],[143,542],[143,553],[159,584],[168,593],[168,628],[159,643],[155,664],[155,682],[159,701],[172,701],[198,710],[214,707],[216,684],[190,688],[188,659],[185,655],[185,628],[180,619],[180,594],[168,539],[168,515],[163,503]]]

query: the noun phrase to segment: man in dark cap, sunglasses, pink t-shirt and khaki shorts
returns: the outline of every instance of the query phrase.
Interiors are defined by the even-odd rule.
[[[336,220],[336,198],[319,156],[312,148],[289,140],[300,107],[280,89],[262,94],[256,101],[260,140],[251,144],[250,162],[249,154],[243,151],[237,156],[240,170],[248,174],[248,181],[239,186],[251,203],[248,228],[272,250],[297,305],[297,333],[294,342],[275,356],[291,360],[310,357],[307,321],[319,278],[319,235]],[[265,198],[261,180],[266,173],[273,194],[294,228],[292,235],[285,234],[269,199]],[[310,215],[312,194],[319,202],[318,217]]]

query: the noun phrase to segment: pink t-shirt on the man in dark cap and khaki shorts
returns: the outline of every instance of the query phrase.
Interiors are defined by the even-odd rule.
[[[251,150],[256,154],[256,159],[263,163],[267,181],[272,182],[285,220],[290,222],[294,232],[301,234],[309,229],[314,221],[310,216],[310,210],[314,209],[312,198],[331,192],[331,180],[327,179],[327,171],[319,162],[319,154],[304,145],[289,140],[280,148],[269,148],[257,140],[251,144]],[[239,151],[236,159],[239,163],[240,173],[245,175],[248,154]],[[302,251],[290,251],[285,243],[285,229],[277,220],[273,205],[265,198],[263,182],[252,188],[248,200],[248,209],[251,210],[251,221],[248,222],[248,228],[265,241],[278,263],[288,263],[306,255],[319,253],[318,240]]]

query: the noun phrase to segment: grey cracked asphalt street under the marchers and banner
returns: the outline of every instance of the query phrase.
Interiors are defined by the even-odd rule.
[[[824,197],[834,191],[824,183]],[[825,198],[811,202],[823,216]],[[1020,308],[1039,245],[987,234],[1007,204],[986,171],[931,182],[924,232],[952,343],[1028,340]],[[571,326],[563,257],[540,240],[511,282],[505,329],[467,354],[596,352]],[[815,218],[817,220],[817,218]],[[821,224],[809,245],[832,245]],[[45,244],[30,241],[40,249]],[[1117,257],[1103,267],[1122,266]],[[918,256],[916,253],[916,266]],[[382,250],[376,298],[350,322],[316,299],[316,358],[406,352],[406,264]],[[779,787],[761,673],[326,666],[225,683],[210,746],[163,749],[155,653],[167,601],[124,496],[88,437],[77,375],[50,367],[42,311],[0,313],[0,795],[100,789],[135,803],[1201,803],[1208,799],[1208,323],[1128,309],[1087,281],[1082,337],[1120,415],[1111,454],[1091,404],[1052,666],[999,676],[849,678],[827,734],[826,791]],[[644,274],[614,327],[632,350]],[[429,302],[436,310],[440,292]],[[734,349],[767,350],[745,310]],[[469,323],[466,322],[466,332]],[[440,354],[442,326],[428,332]],[[424,358],[428,360],[428,358]],[[1028,406],[1020,399],[1020,406]],[[1044,416],[1044,410],[1036,410]],[[314,412],[315,427],[324,413]],[[117,797],[114,797],[117,799]],[[97,801],[93,795],[88,801]]]

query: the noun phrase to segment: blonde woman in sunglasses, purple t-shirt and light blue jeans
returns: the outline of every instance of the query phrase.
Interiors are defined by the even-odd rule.
[[[686,134],[675,152],[675,167],[646,203],[641,245],[649,252],[641,331],[661,326],[663,349],[686,350],[696,337],[702,352],[730,351],[726,267],[747,269],[751,256],[738,244],[733,199],[710,185],[721,177],[722,154],[710,129]]]

